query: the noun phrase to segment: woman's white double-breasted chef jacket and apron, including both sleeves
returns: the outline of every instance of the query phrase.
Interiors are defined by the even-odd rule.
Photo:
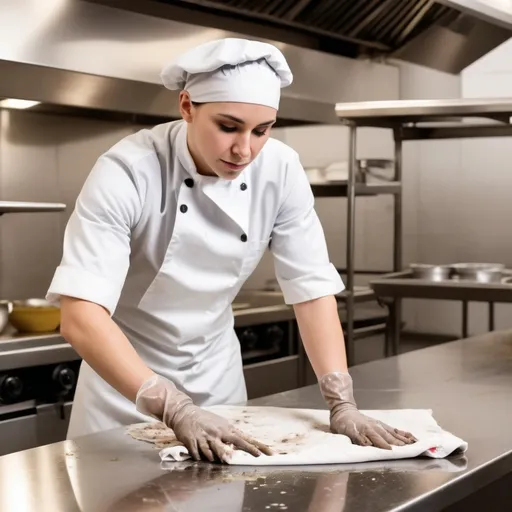
[[[269,243],[288,304],[338,293],[343,283],[292,149],[270,139],[227,181],[197,173],[186,134],[184,121],[161,124],[98,159],[47,298],[105,307],[146,364],[196,404],[242,403],[231,302]],[[68,437],[146,420],[82,364]]]

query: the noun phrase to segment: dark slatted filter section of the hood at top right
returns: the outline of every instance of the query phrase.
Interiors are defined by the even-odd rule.
[[[397,58],[455,74],[512,36],[511,0],[92,1],[129,5],[139,12],[150,12],[154,4],[180,6],[191,9],[196,19],[222,15],[223,23],[212,18],[210,25],[227,30],[252,22],[260,33],[261,27],[280,30],[281,41],[302,35],[307,36],[303,46],[321,51]]]

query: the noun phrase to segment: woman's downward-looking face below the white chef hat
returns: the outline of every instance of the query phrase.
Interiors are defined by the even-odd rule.
[[[250,103],[192,105],[187,92],[180,110],[188,123],[187,142],[200,174],[235,179],[258,156],[277,111]]]

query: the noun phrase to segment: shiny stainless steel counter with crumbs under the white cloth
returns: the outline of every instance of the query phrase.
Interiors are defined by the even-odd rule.
[[[352,374],[361,408],[432,408],[444,428],[469,442],[466,456],[353,466],[162,466],[157,450],[115,429],[0,457],[0,510],[431,512],[511,474],[512,331],[368,363]],[[316,386],[251,404],[323,407]],[[497,503],[486,502],[485,510],[500,510]],[[510,510],[510,503],[501,507]]]

